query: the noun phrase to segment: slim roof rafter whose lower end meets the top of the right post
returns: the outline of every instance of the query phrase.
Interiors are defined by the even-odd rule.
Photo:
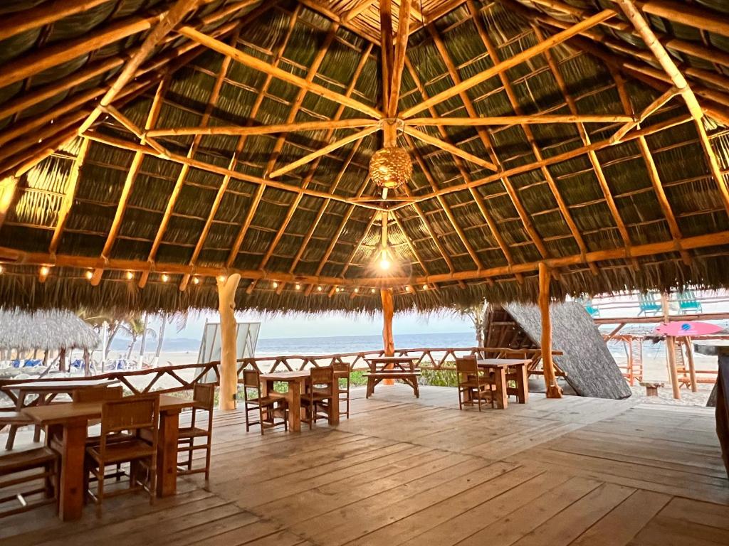
[[[443,63],[445,64],[445,67],[448,69],[448,75],[451,76],[451,80],[453,80],[453,87],[459,87],[459,84],[462,83],[461,78],[458,74],[458,70],[453,63],[453,60],[451,60],[451,56],[448,54],[448,51],[445,49],[445,44],[443,44],[443,39],[440,37],[440,33],[436,30],[434,25],[428,25],[427,29],[430,33],[430,36],[432,37],[434,44],[436,46],[436,49],[440,53],[440,58],[443,59]],[[501,63],[498,62],[498,58],[494,59],[494,66],[500,65]],[[498,74],[502,74],[501,72],[498,72]],[[461,98],[461,102],[464,105],[464,108],[466,108],[467,114],[469,117],[475,117],[477,116],[476,109],[473,106],[473,103],[471,102],[471,99],[469,98],[468,94],[465,92],[465,90],[457,93],[459,95],[459,98]],[[426,100],[426,102],[428,102]],[[430,107],[429,107],[430,108]],[[488,135],[488,132],[486,130],[483,130],[483,127],[478,127],[477,130],[478,138],[480,138],[480,141],[483,143],[483,146],[488,151],[491,161],[494,162],[494,167],[496,167],[496,171],[501,171],[502,167],[499,162],[499,158],[496,157],[496,152],[494,151],[494,144],[491,142],[491,137]],[[534,242],[534,246],[537,247],[537,250],[542,255],[542,258],[546,258],[547,253],[547,247],[545,246],[544,242],[542,241],[542,237],[537,233],[537,229],[534,228],[534,224],[531,222],[531,219],[529,218],[529,213],[526,212],[526,208],[524,207],[523,203],[521,202],[521,199],[519,198],[518,192],[516,191],[514,185],[511,183],[510,179],[507,176],[500,177],[502,184],[504,185],[504,189],[506,189],[507,194],[509,196],[509,199],[512,202],[512,205],[514,205],[514,208],[516,209],[517,214],[519,215],[519,218],[521,219],[521,223],[524,226],[524,229],[526,230],[526,233],[529,234],[529,237],[531,237],[532,242]]]

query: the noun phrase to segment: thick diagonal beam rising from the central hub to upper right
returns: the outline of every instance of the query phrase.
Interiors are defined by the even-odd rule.
[[[519,53],[518,55],[514,55],[513,57],[508,58],[501,63],[491,66],[491,68],[487,68],[485,71],[482,71],[479,74],[475,74],[468,79],[464,79],[461,84],[453,85],[453,87],[449,87],[447,90],[444,90],[437,95],[433,95],[428,100],[416,104],[416,106],[408,108],[405,111],[402,111],[399,115],[403,119],[406,119],[412,117],[414,114],[417,114],[420,111],[425,110],[426,108],[428,108],[428,106],[435,106],[436,104],[442,103],[444,100],[455,97],[456,95],[459,95],[459,93],[469,90],[471,87],[474,87],[477,84],[486,82],[487,79],[496,76],[496,74],[506,71],[509,68],[513,68],[514,66],[517,66],[518,64],[523,63],[526,60],[534,58],[536,55],[539,55],[539,53],[549,49],[550,47],[561,44],[563,41],[572,38],[572,36],[579,34],[587,28],[593,27],[594,25],[601,23],[601,21],[609,19],[609,17],[612,17],[613,15],[615,15],[615,12],[612,9],[605,9],[584,21],[580,21],[580,23],[573,25],[565,31],[556,33],[554,36],[550,36],[548,40],[543,41],[542,43],[535,46],[529,47],[526,50],[523,50],[523,52]]]

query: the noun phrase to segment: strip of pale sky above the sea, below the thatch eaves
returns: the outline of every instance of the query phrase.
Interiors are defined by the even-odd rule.
[[[274,317],[251,312],[238,312],[240,323],[260,322],[260,339],[304,338],[328,336],[370,336],[382,333],[382,314],[369,315],[328,313],[310,315],[290,313]],[[219,322],[217,312],[191,313],[183,331],[177,332],[175,325],[169,327],[165,337],[201,339],[203,325]],[[159,320],[150,320],[150,328],[157,330]],[[469,320],[443,314],[397,313],[392,323],[393,333],[452,333],[472,331]]]

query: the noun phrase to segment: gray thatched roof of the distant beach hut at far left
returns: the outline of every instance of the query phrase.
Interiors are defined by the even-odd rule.
[[[0,309],[0,349],[95,349],[98,335],[69,311]]]

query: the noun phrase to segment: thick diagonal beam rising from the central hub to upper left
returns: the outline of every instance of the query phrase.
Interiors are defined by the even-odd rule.
[[[332,91],[328,87],[324,87],[323,85],[315,84],[313,82],[306,82],[305,79],[299,76],[295,76],[295,74],[292,74],[291,72],[287,72],[285,70],[282,70],[281,68],[273,67],[270,64],[266,63],[264,60],[253,57],[252,55],[248,55],[247,53],[244,53],[242,51],[236,50],[235,48],[230,47],[222,41],[211,38],[210,36],[207,36],[206,34],[197,31],[195,28],[192,28],[190,26],[183,26],[182,28],[179,28],[179,33],[181,33],[182,36],[187,36],[187,38],[195,40],[198,43],[209,47],[211,50],[222,53],[223,55],[230,55],[233,60],[245,66],[248,66],[249,68],[253,68],[254,70],[263,72],[264,74],[269,74],[270,76],[281,79],[284,82],[293,84],[297,87],[301,87],[310,92],[318,93],[324,98],[328,98],[330,100],[333,100],[335,103],[340,103],[344,106],[348,106],[349,108],[360,111],[363,114],[372,116],[375,119],[380,119],[382,117],[382,112],[378,111],[372,106],[361,103],[359,102],[359,100],[356,100],[354,98],[345,97],[341,93]]]

